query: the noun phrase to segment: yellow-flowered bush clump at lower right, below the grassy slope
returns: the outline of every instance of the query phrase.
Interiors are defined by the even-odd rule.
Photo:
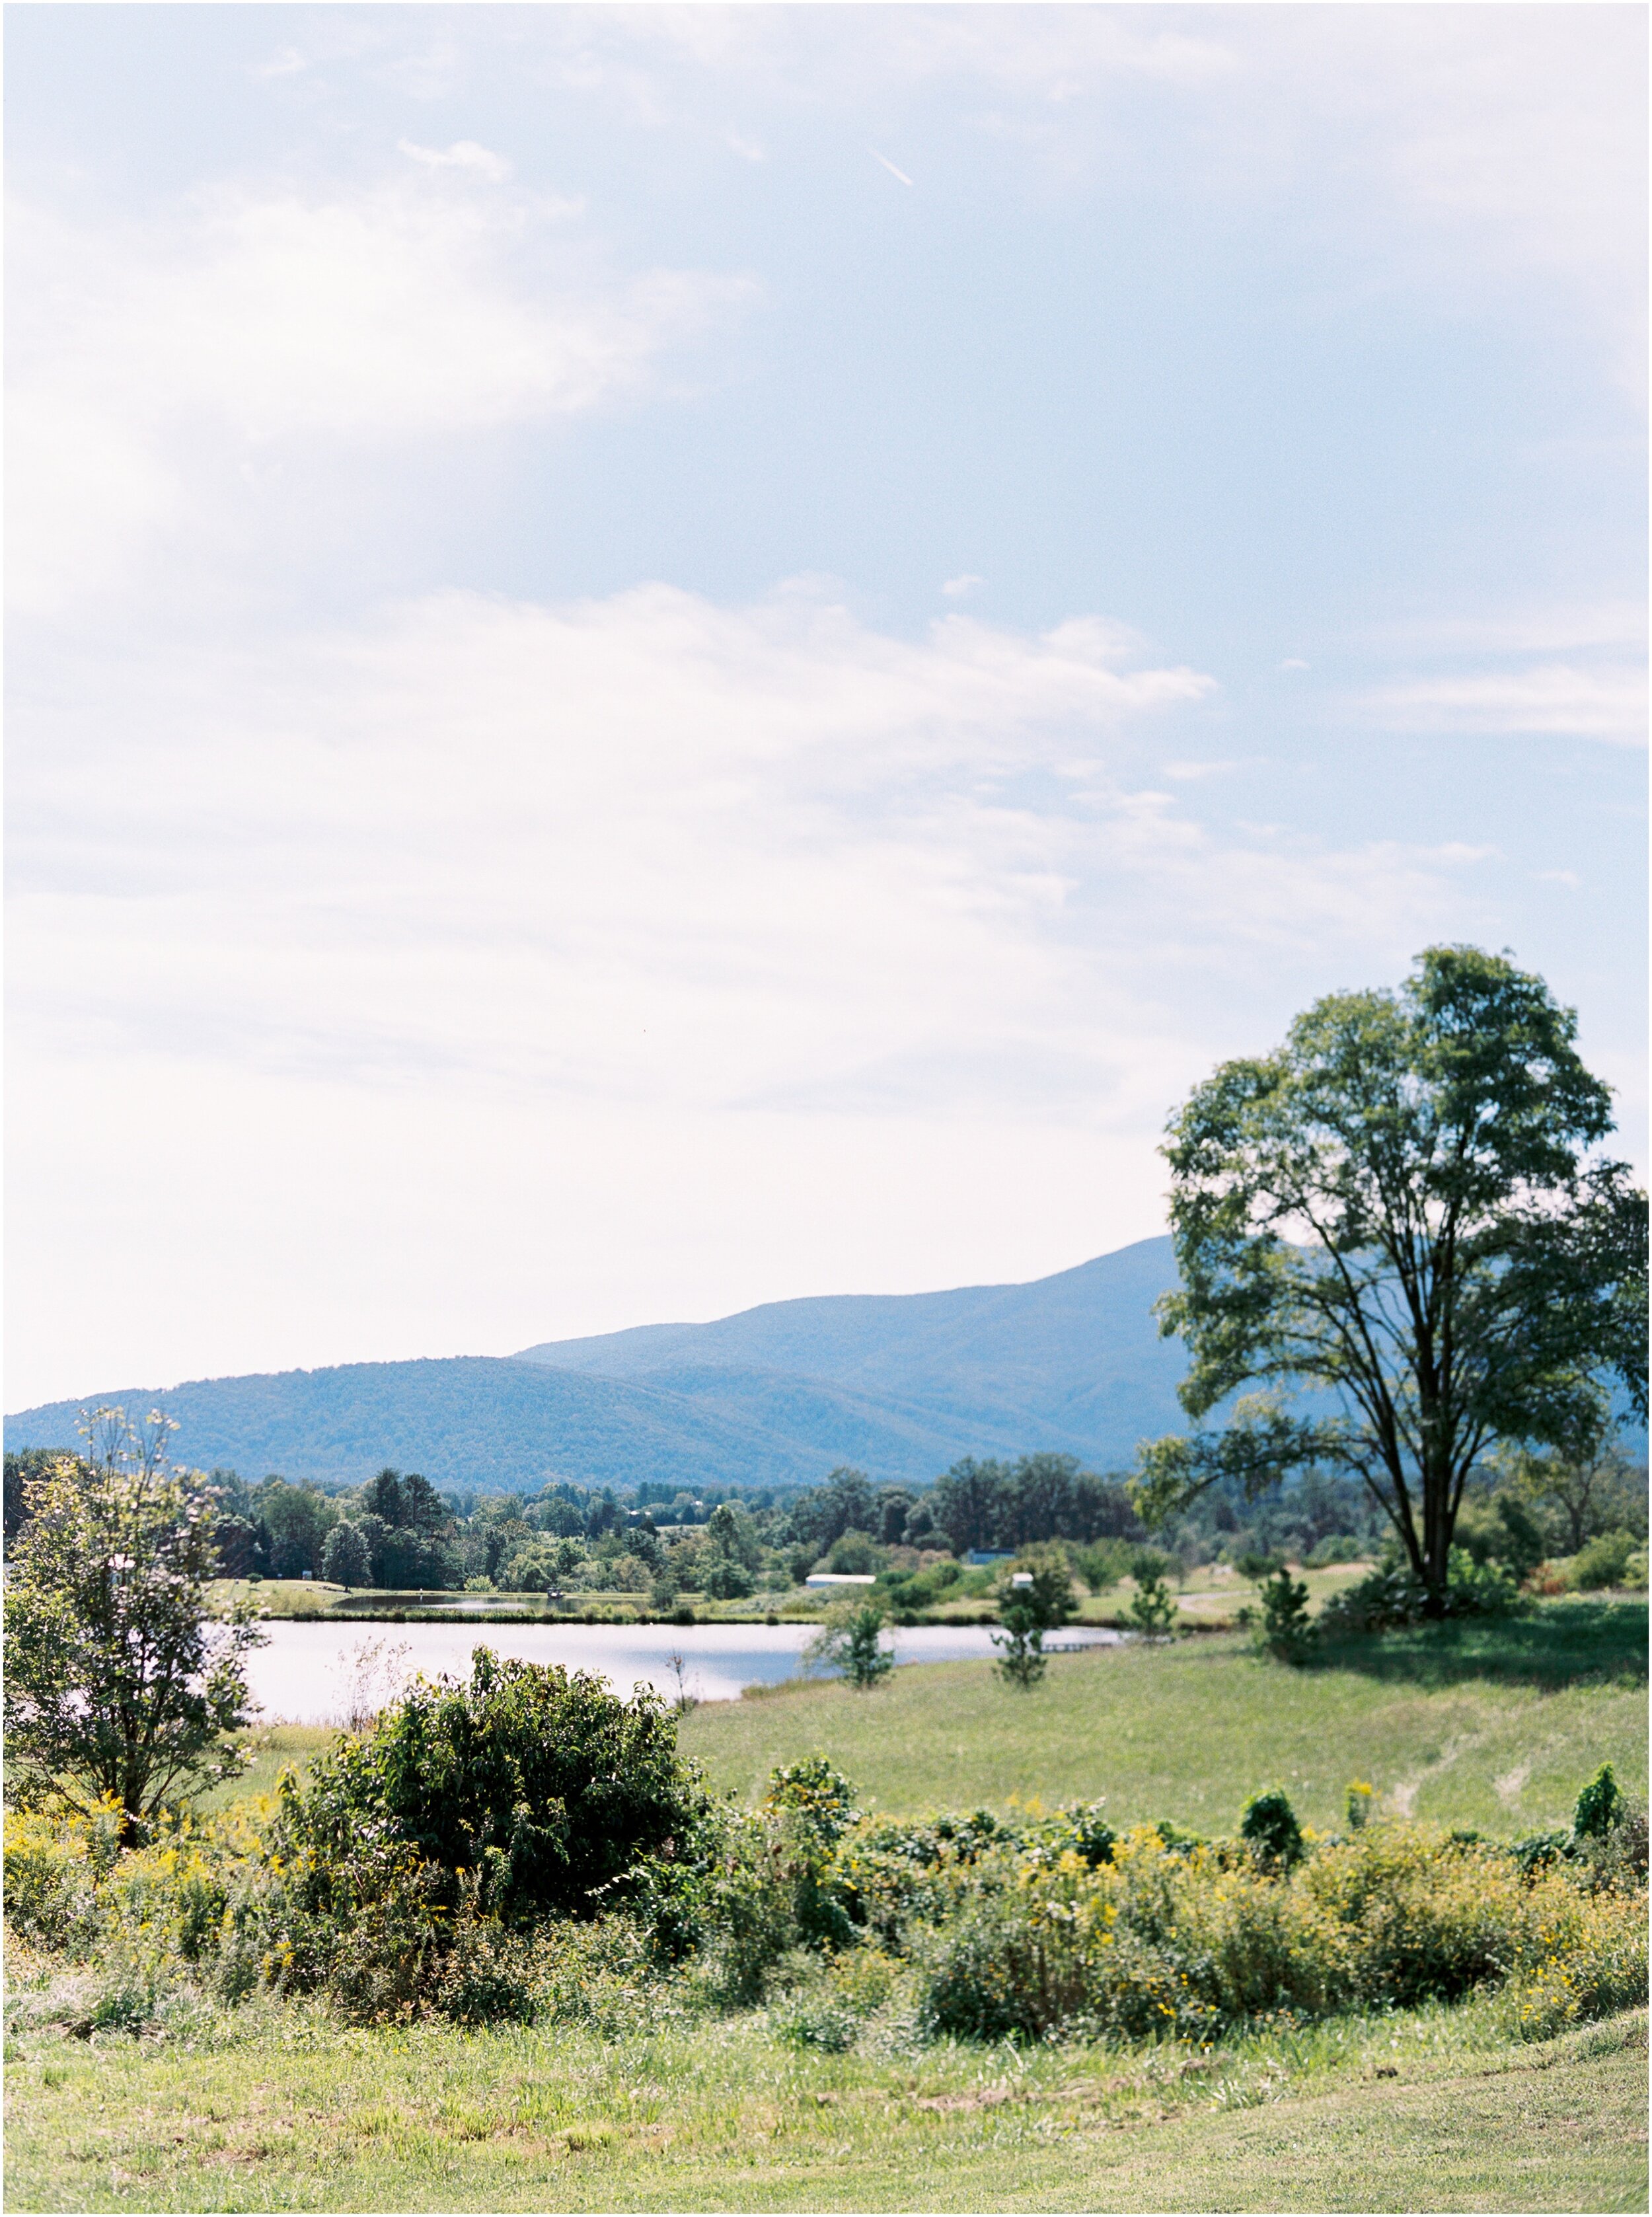
[[[1645,1993],[1643,1898],[1528,1878],[1497,1849],[1375,1825],[1279,1858],[1177,1851],[1151,1827],[1109,1862],[1000,1853],[914,1935],[934,2031],[973,2040],[1122,2033],[1213,2040],[1357,2006],[1506,1986],[1554,2029]]]

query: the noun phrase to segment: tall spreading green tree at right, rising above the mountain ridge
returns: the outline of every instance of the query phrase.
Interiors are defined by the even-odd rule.
[[[1255,1499],[1339,1465],[1444,1610],[1464,1481],[1492,1443],[1570,1454],[1645,1417],[1645,1195],[1601,1144],[1610,1091],[1541,978],[1430,947],[1399,991],[1330,993],[1171,1120],[1193,1419],[1151,1441],[1162,1519],[1220,1477]],[[1244,1392],[1251,1388],[1251,1392]],[[1306,1408],[1291,1406],[1297,1392]]]

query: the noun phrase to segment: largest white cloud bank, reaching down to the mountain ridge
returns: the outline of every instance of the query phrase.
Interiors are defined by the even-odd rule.
[[[146,1301],[53,1277],[13,1397],[1153,1233],[1166,1102],[1477,860],[1191,820],[1133,763],[1211,681],[1120,636],[647,585],[22,676],[18,1253]]]

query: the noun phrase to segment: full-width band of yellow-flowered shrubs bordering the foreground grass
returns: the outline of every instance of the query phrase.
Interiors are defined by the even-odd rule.
[[[1240,1842],[1169,1822],[1120,1836],[1095,1802],[896,1825],[856,1816],[814,1756],[752,1816],[701,1809],[681,1849],[634,1867],[623,1909],[508,1920],[475,1862],[455,1873],[364,1825],[322,1869],[290,1814],[288,1794],[268,1829],[248,1811],[124,1853],[102,1818],[11,1818],[13,1931],[95,1964],[91,2022],[111,2031],[257,1984],[319,1989],[353,2022],[605,2031],[778,1993],[783,2037],[836,2053],[1211,2042],[1477,1989],[1546,2033],[1645,1995],[1643,1827],[1639,1853],[1583,1836],[1590,1853],[1543,1860],[1408,1822],[1313,1840],[1279,1794],[1253,1798]]]

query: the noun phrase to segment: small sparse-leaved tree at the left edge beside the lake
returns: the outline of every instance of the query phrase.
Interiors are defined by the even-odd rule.
[[[246,1612],[206,1618],[217,1496],[162,1461],[166,1426],[98,1410],[89,1461],[27,1488],[7,1587],[4,1731],[11,1789],[80,1811],[113,1800],[129,1833],[239,1769],[248,1720]]]

